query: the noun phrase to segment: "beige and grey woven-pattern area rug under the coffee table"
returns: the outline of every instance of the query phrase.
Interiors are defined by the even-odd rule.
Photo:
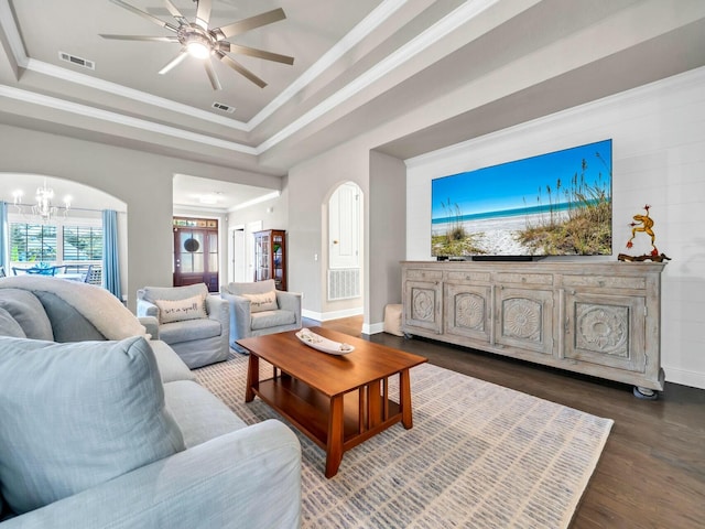
[[[195,373],[246,422],[281,419],[245,402],[247,357]],[[332,479],[324,451],[297,432],[303,528],[568,527],[610,419],[429,364],[411,370],[411,390],[413,428],[395,424],[346,452]]]

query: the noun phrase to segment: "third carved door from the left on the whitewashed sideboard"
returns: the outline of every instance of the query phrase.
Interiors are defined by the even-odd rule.
[[[553,292],[497,289],[496,341],[521,349],[553,352]]]

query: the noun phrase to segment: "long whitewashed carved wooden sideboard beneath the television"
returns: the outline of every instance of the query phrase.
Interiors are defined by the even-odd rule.
[[[662,390],[657,262],[404,261],[402,331]]]

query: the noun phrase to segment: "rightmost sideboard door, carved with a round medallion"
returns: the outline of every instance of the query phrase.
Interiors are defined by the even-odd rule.
[[[644,299],[568,293],[565,357],[644,371]]]

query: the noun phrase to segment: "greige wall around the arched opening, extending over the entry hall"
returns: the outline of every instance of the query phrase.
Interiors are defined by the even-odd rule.
[[[280,188],[281,179],[0,125],[2,172],[43,174],[100,190],[128,206],[119,237],[128,306],[149,285],[172,284],[173,175]],[[237,179],[237,180],[236,180]],[[121,264],[124,264],[122,262]],[[124,282],[123,282],[124,285]]]

